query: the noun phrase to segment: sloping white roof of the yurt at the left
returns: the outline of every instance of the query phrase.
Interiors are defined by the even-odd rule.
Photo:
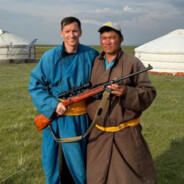
[[[28,45],[29,42],[19,36],[16,36],[8,31],[3,31],[0,29],[0,47],[2,46],[18,46],[18,45]]]

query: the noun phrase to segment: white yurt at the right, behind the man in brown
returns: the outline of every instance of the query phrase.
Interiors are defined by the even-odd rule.
[[[152,72],[184,75],[184,29],[177,29],[135,48],[135,56]]]

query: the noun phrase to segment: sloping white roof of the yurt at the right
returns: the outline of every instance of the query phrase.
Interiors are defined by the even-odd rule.
[[[141,53],[184,53],[184,29],[177,29],[135,48]]]

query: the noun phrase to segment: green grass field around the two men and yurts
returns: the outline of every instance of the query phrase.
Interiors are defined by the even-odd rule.
[[[99,49],[99,47],[95,47]],[[134,47],[124,47],[133,53]],[[48,48],[37,47],[41,55]],[[39,52],[38,52],[39,50]],[[38,56],[37,57],[40,57]],[[28,94],[36,63],[0,65],[0,183],[43,184],[42,132]],[[143,134],[155,162],[158,184],[184,183],[184,77],[149,74],[157,97],[142,115]]]

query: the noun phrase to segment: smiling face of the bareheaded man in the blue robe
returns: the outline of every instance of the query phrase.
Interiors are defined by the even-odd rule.
[[[65,47],[77,47],[81,35],[82,31],[76,22],[65,25],[61,30],[61,37],[64,39]]]

